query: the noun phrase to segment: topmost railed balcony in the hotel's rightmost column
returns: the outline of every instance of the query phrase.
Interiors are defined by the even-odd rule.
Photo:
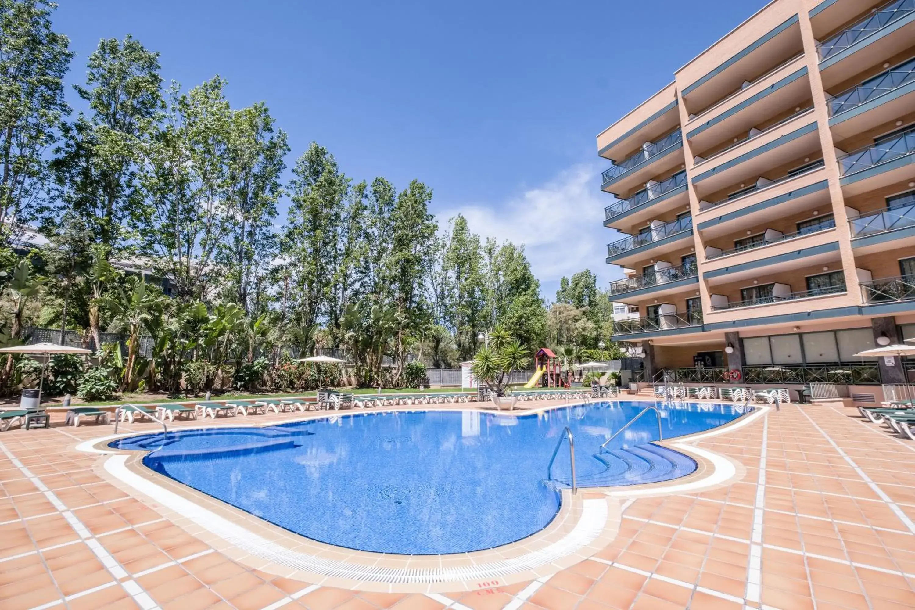
[[[911,44],[915,0],[891,0],[820,44],[823,86],[867,70]]]

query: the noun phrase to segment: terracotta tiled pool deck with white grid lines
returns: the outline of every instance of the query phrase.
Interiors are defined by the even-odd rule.
[[[537,580],[450,594],[353,591],[254,570],[102,476],[106,456],[77,445],[111,434],[111,425],[59,419],[50,430],[0,433],[3,610],[915,607],[915,443],[841,407],[786,405],[697,438],[700,450],[742,465],[739,480],[619,498],[619,531],[589,559]],[[120,432],[156,429],[134,423]]]

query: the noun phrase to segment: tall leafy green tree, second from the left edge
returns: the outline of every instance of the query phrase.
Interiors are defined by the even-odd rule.
[[[109,251],[132,237],[128,222],[143,209],[141,155],[162,109],[158,53],[134,37],[102,39],[89,56],[86,87],[76,86],[91,114],[82,112],[63,128],[63,145],[52,162],[59,200],[76,212]],[[59,209],[45,218],[59,221]]]

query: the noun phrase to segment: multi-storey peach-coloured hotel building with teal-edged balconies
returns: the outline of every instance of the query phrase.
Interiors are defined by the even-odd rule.
[[[854,355],[915,337],[915,0],[775,0],[597,149],[646,381],[905,380]]]

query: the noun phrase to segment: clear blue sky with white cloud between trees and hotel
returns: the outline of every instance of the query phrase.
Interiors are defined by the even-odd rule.
[[[220,74],[233,106],[267,102],[287,165],[314,140],[351,177],[418,178],[439,218],[461,212],[482,235],[524,242],[552,298],[563,274],[621,276],[603,262],[616,234],[601,226],[612,196],[597,133],[764,2],[59,4],[71,81],[101,37],[131,33],[161,53],[166,80]]]

